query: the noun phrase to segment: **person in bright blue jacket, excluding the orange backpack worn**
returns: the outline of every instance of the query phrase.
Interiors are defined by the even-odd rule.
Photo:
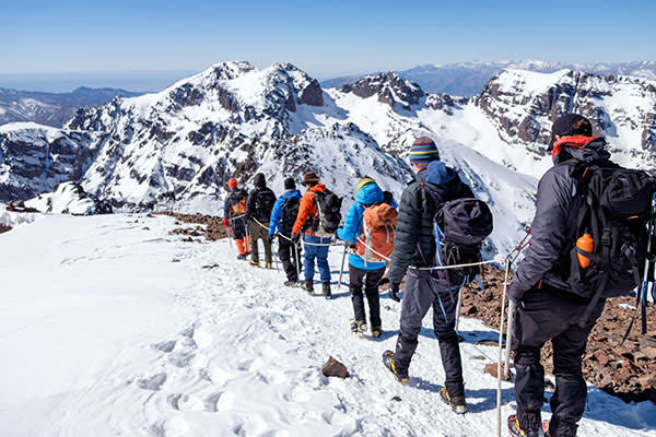
[[[355,203],[353,203],[344,220],[343,227],[337,229],[337,237],[355,245],[358,239],[364,240],[362,233],[363,214],[367,206],[376,203],[388,203],[397,209],[398,205],[390,192],[383,192],[376,181],[370,177],[364,177],[358,182],[358,193]],[[362,333],[366,330],[366,316],[364,311],[364,296],[362,284],[365,283],[365,294],[370,307],[370,322],[372,335],[380,336],[380,300],[378,297],[378,283],[385,273],[387,261],[372,262],[365,261],[360,255],[351,250],[349,255],[349,291],[353,302],[354,320],[351,323],[351,331]]]

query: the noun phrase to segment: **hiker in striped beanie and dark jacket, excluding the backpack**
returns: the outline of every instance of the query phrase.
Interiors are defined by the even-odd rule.
[[[396,302],[400,302],[399,288],[408,267],[434,265],[432,260],[436,256],[437,246],[433,218],[441,206],[438,202],[473,197],[458,173],[440,161],[440,152],[432,139],[417,139],[409,157],[417,175],[401,197],[388,272],[389,296]],[[438,193],[438,199],[433,199],[433,192]],[[383,359],[400,382],[408,381],[408,368],[419,343],[422,320],[433,307],[433,328],[440,342],[442,365],[446,374],[445,387],[440,395],[456,413],[461,414],[467,406],[460,349],[455,331],[458,287],[449,288],[454,288],[454,284],[436,283],[431,271],[408,271],[396,351],[386,351]]]

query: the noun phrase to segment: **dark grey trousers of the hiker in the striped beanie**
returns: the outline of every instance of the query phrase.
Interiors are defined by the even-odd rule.
[[[433,330],[440,342],[446,376],[444,386],[452,398],[460,398],[465,395],[465,387],[460,345],[455,330],[458,290],[449,288],[427,271],[408,270],[401,305],[401,329],[394,358],[399,371],[407,373],[419,344],[422,320],[433,307]]]

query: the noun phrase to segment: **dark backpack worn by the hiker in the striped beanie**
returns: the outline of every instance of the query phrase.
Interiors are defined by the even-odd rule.
[[[436,265],[476,263],[482,260],[481,245],[492,234],[494,220],[485,202],[473,198],[441,202],[427,186],[425,191],[438,205],[433,217]],[[456,288],[469,284],[480,271],[480,265],[442,269],[437,276]]]

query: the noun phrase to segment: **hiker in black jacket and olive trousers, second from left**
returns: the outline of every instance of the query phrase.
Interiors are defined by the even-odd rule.
[[[271,256],[271,241],[268,238],[269,220],[271,210],[276,203],[276,194],[267,187],[265,175],[258,173],[253,178],[255,188],[248,194],[246,201],[246,221],[250,234],[250,265],[259,267],[258,239],[265,244],[266,268],[271,269],[273,259]]]

